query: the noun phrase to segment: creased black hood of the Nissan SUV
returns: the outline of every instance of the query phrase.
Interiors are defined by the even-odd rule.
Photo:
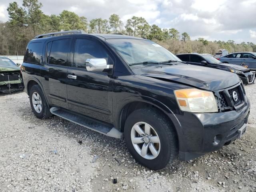
[[[150,70],[142,75],[211,91],[228,88],[240,82],[240,78],[231,72],[181,63]]]

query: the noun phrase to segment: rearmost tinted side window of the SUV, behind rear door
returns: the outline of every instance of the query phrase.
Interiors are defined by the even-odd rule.
[[[42,55],[42,43],[30,43],[27,47],[26,54],[24,56],[24,62],[27,63],[40,63],[40,57]]]

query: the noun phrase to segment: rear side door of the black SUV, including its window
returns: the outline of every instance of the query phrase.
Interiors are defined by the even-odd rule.
[[[52,106],[68,109],[67,68],[70,65],[72,38],[59,38],[48,42],[46,62],[49,71],[49,99]]]

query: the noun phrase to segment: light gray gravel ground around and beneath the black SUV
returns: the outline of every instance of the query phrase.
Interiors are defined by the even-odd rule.
[[[242,139],[160,171],[137,164],[124,140],[37,119],[24,92],[0,94],[0,191],[255,192],[256,84],[245,89],[252,106]]]

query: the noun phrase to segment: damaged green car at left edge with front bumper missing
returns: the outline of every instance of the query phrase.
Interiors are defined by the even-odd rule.
[[[22,90],[20,67],[7,57],[0,57],[0,92]]]

